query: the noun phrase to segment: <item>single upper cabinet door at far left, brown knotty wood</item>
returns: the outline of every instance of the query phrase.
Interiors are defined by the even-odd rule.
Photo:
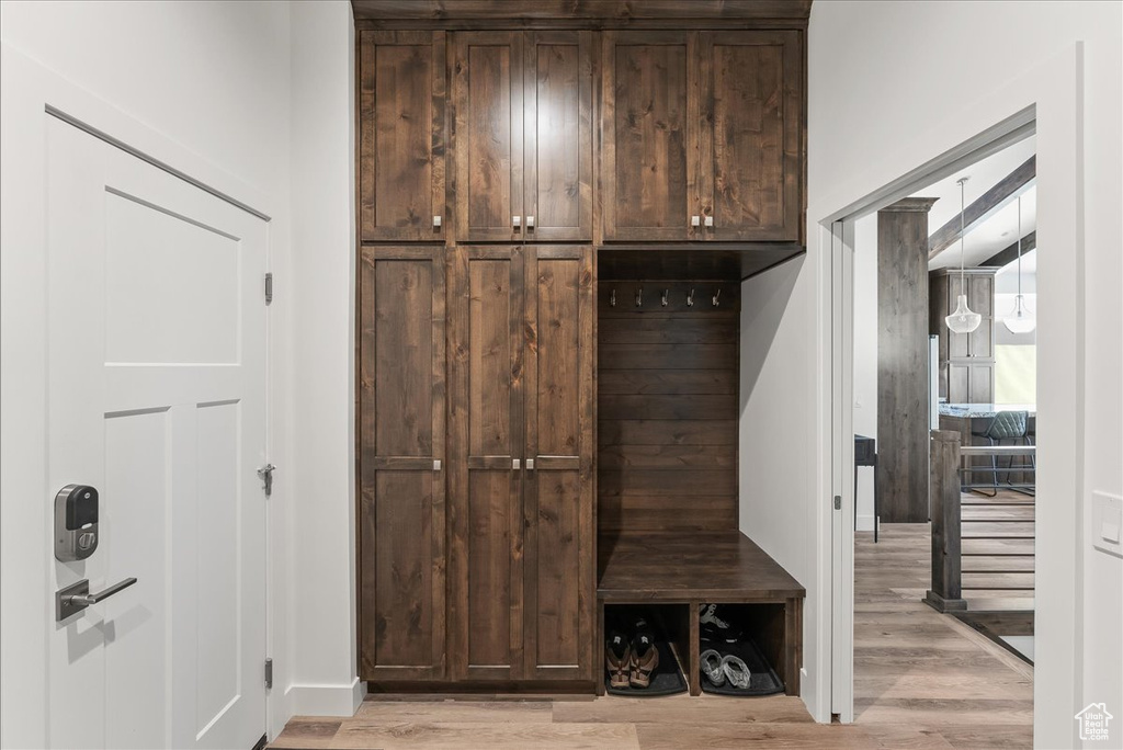
[[[445,33],[359,33],[365,240],[445,239]]]

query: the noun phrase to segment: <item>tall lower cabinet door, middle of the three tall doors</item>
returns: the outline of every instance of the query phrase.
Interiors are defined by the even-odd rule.
[[[522,250],[460,247],[453,282],[454,671],[518,679],[522,652]]]

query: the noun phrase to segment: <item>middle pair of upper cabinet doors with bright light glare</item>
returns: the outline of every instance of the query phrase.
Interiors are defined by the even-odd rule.
[[[456,236],[588,240],[591,31],[455,34]]]

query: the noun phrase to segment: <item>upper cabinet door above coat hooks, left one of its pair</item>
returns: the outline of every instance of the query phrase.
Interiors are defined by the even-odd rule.
[[[604,239],[701,239],[696,31],[605,31]],[[688,132],[690,131],[690,132]]]

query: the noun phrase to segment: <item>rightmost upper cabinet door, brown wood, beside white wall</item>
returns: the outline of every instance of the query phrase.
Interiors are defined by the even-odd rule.
[[[801,240],[800,33],[707,31],[699,43],[703,238]]]

